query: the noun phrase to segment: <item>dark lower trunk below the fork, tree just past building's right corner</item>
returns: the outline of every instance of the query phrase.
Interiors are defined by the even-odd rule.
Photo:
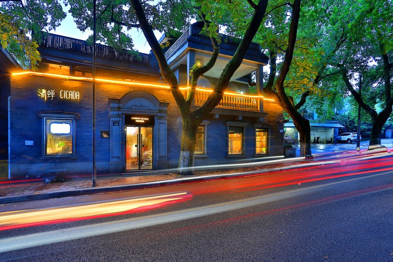
[[[308,119],[304,118],[300,114],[296,117],[292,117],[293,124],[300,135],[300,156],[311,158],[311,128]]]

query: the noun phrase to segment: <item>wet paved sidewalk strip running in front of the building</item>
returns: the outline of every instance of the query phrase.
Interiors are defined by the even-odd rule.
[[[355,145],[356,149],[356,145]],[[391,149],[391,148],[388,148]],[[363,149],[362,149],[363,150]],[[196,182],[228,177],[240,177],[253,174],[262,174],[272,171],[280,171],[293,168],[294,165],[308,163],[311,166],[322,164],[318,158],[336,157],[345,153],[345,157],[358,156],[355,151],[331,151],[318,156],[313,152],[314,159],[304,157],[281,158],[276,162],[244,162],[234,164],[231,168],[197,170],[194,176],[177,177],[173,170],[162,174],[157,171],[145,172],[143,174],[113,174],[97,175],[96,186],[92,187],[91,175],[66,177],[64,182],[51,182],[45,184],[44,180],[33,179],[24,181],[0,181],[0,204],[22,202],[29,200],[41,200],[67,196],[78,196],[92,193],[115,192],[121,190],[132,190],[146,187],[169,185],[184,182]]]

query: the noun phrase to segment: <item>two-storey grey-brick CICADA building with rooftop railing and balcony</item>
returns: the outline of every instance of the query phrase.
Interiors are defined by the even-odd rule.
[[[207,61],[212,53],[200,30],[198,24],[191,25],[178,39],[170,39],[165,53],[184,95],[190,68],[197,60]],[[168,40],[164,36],[160,41]],[[193,108],[207,98],[238,42],[223,36],[215,67],[198,80]],[[100,44],[96,50],[97,173],[176,167],[181,118],[155,56],[116,52]],[[21,71],[1,51],[1,121],[10,127],[1,130],[7,134],[8,176],[91,173],[92,46],[48,34],[38,51],[42,61],[37,72]],[[259,95],[266,63],[260,47],[252,44],[222,102],[198,129],[195,165],[283,155],[282,109]],[[248,82],[253,72],[258,94],[251,95]]]

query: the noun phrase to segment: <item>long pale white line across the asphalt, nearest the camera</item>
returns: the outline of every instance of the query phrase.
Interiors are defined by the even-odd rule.
[[[179,210],[167,212],[164,214],[156,214],[144,216],[139,218],[124,219],[120,221],[112,221],[106,223],[98,223],[94,225],[86,225],[75,228],[68,228],[62,230],[54,230],[43,233],[30,234],[25,236],[7,237],[0,239],[0,253],[9,252],[14,250],[26,249],[46,244],[53,244],[63,241],[81,239],[91,236],[101,236],[105,234],[112,234],[127,230],[140,229],[145,227],[156,226],[160,224],[167,224],[197,217],[213,215],[217,213],[238,210],[242,208],[249,208],[256,205],[266,204],[274,201],[280,201],[296,196],[308,194],[310,191],[317,191],[320,188],[328,187],[335,184],[347,183],[361,179],[367,179],[377,176],[392,174],[392,171],[380,174],[374,174],[362,178],[353,178],[345,181],[337,181],[321,185],[308,186],[304,188],[286,190],[282,192],[271,193],[263,196],[253,198],[229,201],[214,205],[192,208],[188,210]],[[391,188],[386,188],[388,190]],[[382,191],[382,190],[380,190]]]

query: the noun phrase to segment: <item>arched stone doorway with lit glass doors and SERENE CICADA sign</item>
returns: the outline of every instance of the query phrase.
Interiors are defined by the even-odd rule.
[[[132,172],[168,166],[167,107],[144,90],[109,99],[111,119],[110,168]]]

